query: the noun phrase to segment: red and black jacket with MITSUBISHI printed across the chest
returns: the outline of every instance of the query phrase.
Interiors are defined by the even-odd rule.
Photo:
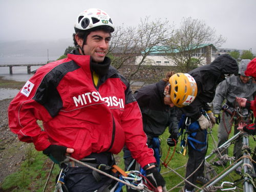
[[[105,57],[102,65],[110,62]],[[62,145],[82,159],[91,153],[117,154],[125,144],[142,167],[156,162],[129,82],[109,66],[95,87],[92,68],[90,56],[75,54],[39,68],[10,103],[11,131],[33,142],[37,151]]]

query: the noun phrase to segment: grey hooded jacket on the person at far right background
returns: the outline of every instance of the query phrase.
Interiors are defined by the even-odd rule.
[[[249,62],[249,59],[241,60],[239,64],[239,74],[245,75],[244,72]],[[239,106],[239,104],[236,103],[236,97],[243,97],[247,100],[252,100],[255,94],[256,83],[253,83],[252,79],[249,79],[247,83],[244,83],[239,76],[232,75],[222,81],[216,89],[216,94],[212,102],[214,106],[214,113],[220,114],[224,99],[227,100],[229,111],[233,112],[235,110],[235,106]]]

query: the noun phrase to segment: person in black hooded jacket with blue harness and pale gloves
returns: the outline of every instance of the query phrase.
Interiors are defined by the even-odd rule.
[[[188,74],[196,80],[198,93],[196,99],[190,105],[181,108],[181,111],[185,117],[190,119],[191,123],[198,121],[199,129],[196,134],[191,134],[190,137],[201,143],[188,142],[188,161],[185,177],[187,178],[197,169],[187,180],[193,184],[196,184],[196,181],[206,183],[207,180],[204,177],[204,158],[207,152],[207,144],[205,144],[205,141],[207,141],[206,129],[210,126],[212,127],[216,122],[208,103],[214,99],[216,87],[225,79],[225,76],[238,74],[238,63],[230,55],[222,54],[209,65],[198,67],[188,72]],[[202,114],[205,114],[205,112],[210,121]],[[185,186],[180,191],[193,190],[194,186],[185,182]]]

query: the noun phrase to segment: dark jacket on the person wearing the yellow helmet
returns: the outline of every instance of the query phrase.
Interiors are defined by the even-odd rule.
[[[160,80],[134,93],[142,113],[143,130],[152,137],[162,135],[167,126],[170,134],[178,133],[177,109],[164,104],[164,88],[165,81]]]

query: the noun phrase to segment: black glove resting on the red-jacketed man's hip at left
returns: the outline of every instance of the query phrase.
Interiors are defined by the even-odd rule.
[[[49,156],[49,158],[54,162],[59,164],[60,162],[65,160],[65,154],[67,153],[66,146],[60,145],[50,145],[44,151],[43,154]]]

